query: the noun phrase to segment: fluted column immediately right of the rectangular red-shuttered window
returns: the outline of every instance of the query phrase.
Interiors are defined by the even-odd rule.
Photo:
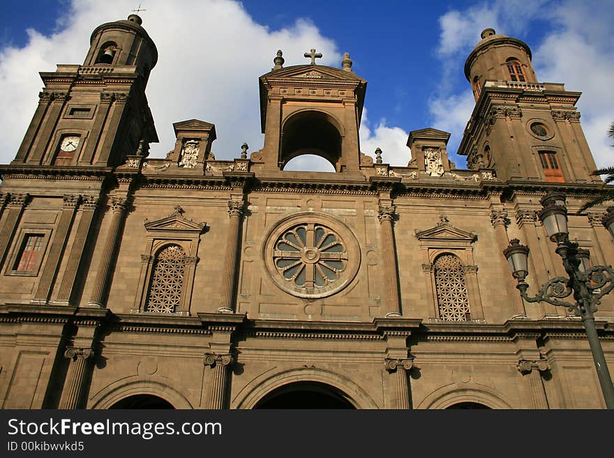
[[[69,196],[63,197],[62,213],[59,217],[59,222],[55,227],[55,234],[53,242],[49,252],[47,253],[47,261],[45,261],[45,268],[43,273],[40,274],[40,282],[38,282],[38,288],[32,299],[33,303],[45,304],[49,300],[53,284],[56,279],[56,275],[60,266],[62,254],[66,243],[68,242],[68,235],[70,234],[70,228],[73,226],[73,220],[75,219],[75,213],[77,212],[77,206],[81,202],[81,196]]]

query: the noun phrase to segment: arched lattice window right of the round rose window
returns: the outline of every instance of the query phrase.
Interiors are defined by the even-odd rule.
[[[440,319],[469,321],[469,298],[461,260],[451,253],[440,254],[435,259],[433,268]]]

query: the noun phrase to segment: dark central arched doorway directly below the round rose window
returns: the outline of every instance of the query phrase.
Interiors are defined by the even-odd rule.
[[[295,382],[269,392],[254,409],[355,409],[346,395],[325,383]]]

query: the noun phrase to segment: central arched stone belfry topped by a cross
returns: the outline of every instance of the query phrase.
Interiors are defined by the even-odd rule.
[[[252,153],[269,171],[281,171],[299,155],[318,155],[337,173],[359,173],[358,129],[366,80],[352,70],[345,53],[343,69],[320,66],[311,49],[306,65],[283,68],[278,51],[271,72],[260,77],[260,114],[264,148]]]

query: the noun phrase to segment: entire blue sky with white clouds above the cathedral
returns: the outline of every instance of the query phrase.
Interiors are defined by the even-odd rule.
[[[91,31],[125,19],[138,2],[126,0],[3,1],[0,10],[0,161],[15,155],[36,107],[38,71],[82,63]],[[158,46],[147,96],[164,157],[173,146],[172,123],[216,124],[217,158],[230,159],[246,141],[262,147],[257,79],[277,49],[285,66],[306,62],[317,47],[323,65],[340,67],[350,52],[353,70],[368,81],[361,151],[384,151],[384,161],[406,165],[407,134],[432,126],[451,132],[451,157],[473,100],[463,75],[479,33],[493,27],[524,40],[541,81],[583,91],[578,104],[598,165],[614,162],[606,137],[614,120],[614,0],[417,1],[143,1],[143,26]],[[317,167],[317,166],[315,166]]]

